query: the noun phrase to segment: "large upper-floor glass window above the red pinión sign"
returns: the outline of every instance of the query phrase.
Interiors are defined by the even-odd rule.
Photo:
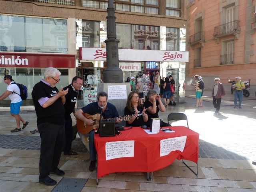
[[[67,20],[0,15],[0,51],[68,53]]]

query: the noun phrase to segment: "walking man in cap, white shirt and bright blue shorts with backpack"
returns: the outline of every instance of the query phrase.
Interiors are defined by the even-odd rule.
[[[20,88],[15,82],[12,82],[12,76],[5,75],[2,77],[4,79],[4,83],[6,83],[7,90],[0,96],[0,101],[4,100],[6,97],[10,97],[11,104],[10,104],[10,113],[12,116],[15,117],[16,120],[16,128],[14,130],[11,130],[12,133],[21,131],[20,128],[20,121],[23,122],[22,129],[24,129],[28,122],[25,121],[19,114],[20,114],[20,106],[22,104],[22,99],[20,97]]]

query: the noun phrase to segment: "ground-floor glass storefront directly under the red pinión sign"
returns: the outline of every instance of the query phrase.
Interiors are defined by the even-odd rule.
[[[61,72],[60,82],[56,84],[58,89],[68,86],[68,69],[58,69]],[[24,84],[28,88],[28,98],[23,102],[22,106],[32,105],[32,90],[36,83],[44,78],[45,68],[0,68],[0,76],[5,74],[11,75],[16,83]],[[2,95],[7,88],[7,84],[1,78],[0,81],[0,95]],[[0,107],[9,106],[10,98],[0,101]]]

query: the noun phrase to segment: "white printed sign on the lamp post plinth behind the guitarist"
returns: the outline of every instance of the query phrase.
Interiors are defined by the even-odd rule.
[[[126,85],[108,85],[108,99],[127,99]]]

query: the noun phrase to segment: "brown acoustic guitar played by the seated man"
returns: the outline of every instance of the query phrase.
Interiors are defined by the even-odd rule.
[[[93,129],[98,129],[100,127],[100,114],[97,113],[95,115],[90,115],[87,113],[83,113],[83,115],[87,118],[87,119],[92,119],[94,121],[93,125],[86,125],[85,122],[83,122],[80,119],[76,119],[76,127],[78,132],[80,132],[81,134],[88,134],[91,130]],[[132,116],[127,115],[127,116],[122,116],[119,117],[120,119],[122,119],[122,121],[128,121],[132,118]],[[109,118],[109,119],[104,119],[105,121],[110,121],[110,120],[116,120],[116,118]]]

